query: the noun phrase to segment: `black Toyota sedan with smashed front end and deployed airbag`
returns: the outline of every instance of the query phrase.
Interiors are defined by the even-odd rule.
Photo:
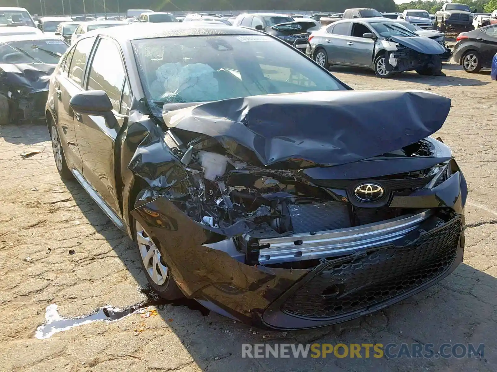
[[[293,329],[383,309],[461,262],[466,181],[430,137],[449,110],[353,91],[255,30],[180,23],[83,36],[46,115],[59,173],[136,242],[161,296]]]

